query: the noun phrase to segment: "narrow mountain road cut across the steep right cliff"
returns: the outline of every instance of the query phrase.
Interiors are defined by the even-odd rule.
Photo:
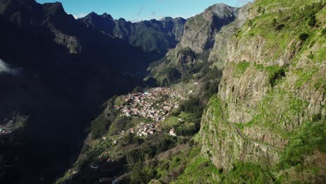
[[[219,99],[219,97],[217,96],[217,98]],[[228,120],[226,120],[225,118],[225,114],[224,114],[224,109],[223,109],[223,106],[221,105],[221,102],[219,102],[219,107],[221,107],[221,110],[222,110],[222,120],[225,122],[225,123],[228,123],[228,125],[231,125],[231,127],[235,128],[235,130],[237,130],[238,132],[238,135],[240,135],[240,137],[242,137],[243,139],[246,139],[247,141],[250,141],[256,145],[261,145],[261,146],[265,146],[267,148],[271,148],[272,150],[275,150],[275,151],[284,151],[283,148],[279,148],[277,146],[272,146],[270,144],[266,144],[266,143],[263,143],[261,141],[256,141],[254,139],[251,139],[250,137],[247,137],[246,135],[243,134],[243,132],[240,130],[240,128],[235,125],[235,123],[232,123]]]

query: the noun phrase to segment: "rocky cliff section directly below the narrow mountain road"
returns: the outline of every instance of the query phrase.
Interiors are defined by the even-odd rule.
[[[277,162],[279,151],[240,137],[235,128],[223,121],[220,103],[217,97],[212,97],[201,119],[201,153],[210,158],[215,167],[226,171],[233,169],[233,163],[240,160],[267,166]]]

